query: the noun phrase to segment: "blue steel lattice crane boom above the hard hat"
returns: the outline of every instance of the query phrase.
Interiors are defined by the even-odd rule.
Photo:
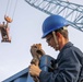
[[[25,0],[32,7],[47,14],[59,14],[66,17],[70,25],[83,32],[83,5],[62,0]]]

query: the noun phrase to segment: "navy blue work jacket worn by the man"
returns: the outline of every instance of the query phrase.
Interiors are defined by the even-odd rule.
[[[42,71],[40,82],[78,82],[82,70],[83,52],[73,46],[66,44],[57,58],[57,69],[54,72]],[[55,63],[56,65],[56,63]]]

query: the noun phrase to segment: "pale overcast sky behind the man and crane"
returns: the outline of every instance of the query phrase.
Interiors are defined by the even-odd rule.
[[[8,1],[0,0],[0,23],[4,21]],[[79,4],[83,3],[83,0],[69,1]],[[13,7],[11,4],[11,12],[13,12]],[[9,16],[12,16],[12,14],[9,13]],[[40,38],[43,35],[42,24],[47,16],[46,13],[31,7],[24,0],[17,0],[13,22],[10,23],[11,43],[0,43],[0,82],[29,66],[32,60],[29,48],[33,44],[42,43],[46,54],[57,58],[58,52],[48,47],[45,39]],[[83,50],[82,32],[69,26],[69,38],[76,47]]]

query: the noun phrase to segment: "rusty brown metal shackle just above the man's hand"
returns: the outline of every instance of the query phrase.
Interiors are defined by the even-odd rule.
[[[32,45],[31,46],[31,54],[33,56],[31,63],[38,66],[40,57],[43,55],[45,55],[45,51],[42,49],[42,44]]]

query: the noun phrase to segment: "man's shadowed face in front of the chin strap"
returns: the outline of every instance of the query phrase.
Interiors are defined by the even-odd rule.
[[[48,46],[52,47],[55,50],[58,50],[58,48],[56,47],[54,36],[51,34],[46,36],[46,42],[48,43]]]

